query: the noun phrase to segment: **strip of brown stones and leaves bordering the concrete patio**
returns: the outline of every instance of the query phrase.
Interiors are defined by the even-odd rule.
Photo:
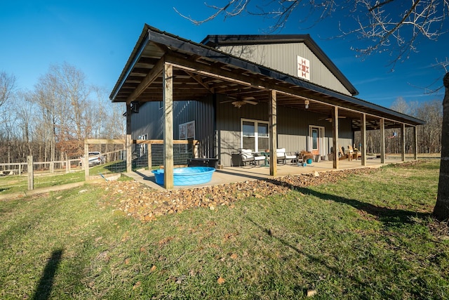
[[[105,199],[119,211],[143,222],[154,221],[159,216],[174,214],[195,207],[234,206],[234,202],[247,197],[268,197],[285,194],[293,188],[304,188],[323,183],[336,183],[352,174],[370,174],[377,170],[370,168],[283,176],[279,178],[228,183],[203,188],[179,190],[154,190],[137,181],[108,181],[105,185]],[[117,201],[119,203],[117,204]]]

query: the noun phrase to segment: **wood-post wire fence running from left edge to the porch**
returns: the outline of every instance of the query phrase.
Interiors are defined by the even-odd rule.
[[[127,171],[127,149],[131,149],[131,169],[159,169],[164,164],[164,145],[162,141],[134,140],[126,147],[124,140],[86,140],[89,154],[88,169],[83,157],[66,161],[32,162],[33,188],[51,185],[82,182],[108,174],[121,174]],[[100,152],[99,149],[108,150]],[[173,145],[173,164],[187,165],[187,159],[196,157],[197,141],[175,141]],[[92,150],[92,152],[89,152]],[[9,162],[0,164],[0,195],[29,187],[28,162]],[[86,176],[87,174],[87,176]]]

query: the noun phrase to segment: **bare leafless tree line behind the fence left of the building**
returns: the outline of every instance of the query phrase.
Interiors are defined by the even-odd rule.
[[[123,138],[123,107],[73,65],[51,65],[34,89],[0,72],[0,162],[78,158],[86,138]]]

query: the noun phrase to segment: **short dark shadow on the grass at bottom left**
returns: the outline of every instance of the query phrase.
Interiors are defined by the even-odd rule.
[[[55,274],[58,270],[59,263],[62,258],[62,249],[53,251],[51,258],[47,261],[45,269],[39,280],[39,285],[36,287],[36,292],[32,299],[48,299],[50,298],[51,291],[53,289],[53,282],[55,280]]]

